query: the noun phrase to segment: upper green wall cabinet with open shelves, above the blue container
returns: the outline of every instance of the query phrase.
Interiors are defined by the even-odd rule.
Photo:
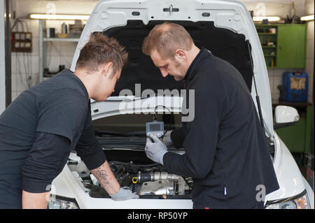
[[[305,24],[256,24],[268,68],[304,69],[307,26]]]

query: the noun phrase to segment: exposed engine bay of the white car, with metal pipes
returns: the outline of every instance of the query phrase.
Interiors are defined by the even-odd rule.
[[[68,166],[91,197],[110,198],[83,161],[69,157]],[[120,183],[120,187],[131,189],[139,195],[140,199],[191,199],[193,179],[167,173],[166,168],[161,164],[109,161],[109,166]]]

